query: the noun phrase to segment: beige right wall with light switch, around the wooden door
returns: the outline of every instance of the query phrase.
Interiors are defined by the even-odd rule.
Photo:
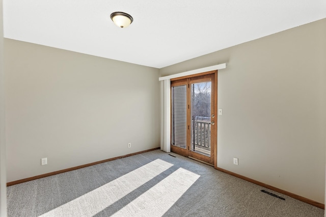
[[[326,19],[160,69],[218,73],[218,167],[324,203]],[[233,157],[239,165],[233,165]]]

